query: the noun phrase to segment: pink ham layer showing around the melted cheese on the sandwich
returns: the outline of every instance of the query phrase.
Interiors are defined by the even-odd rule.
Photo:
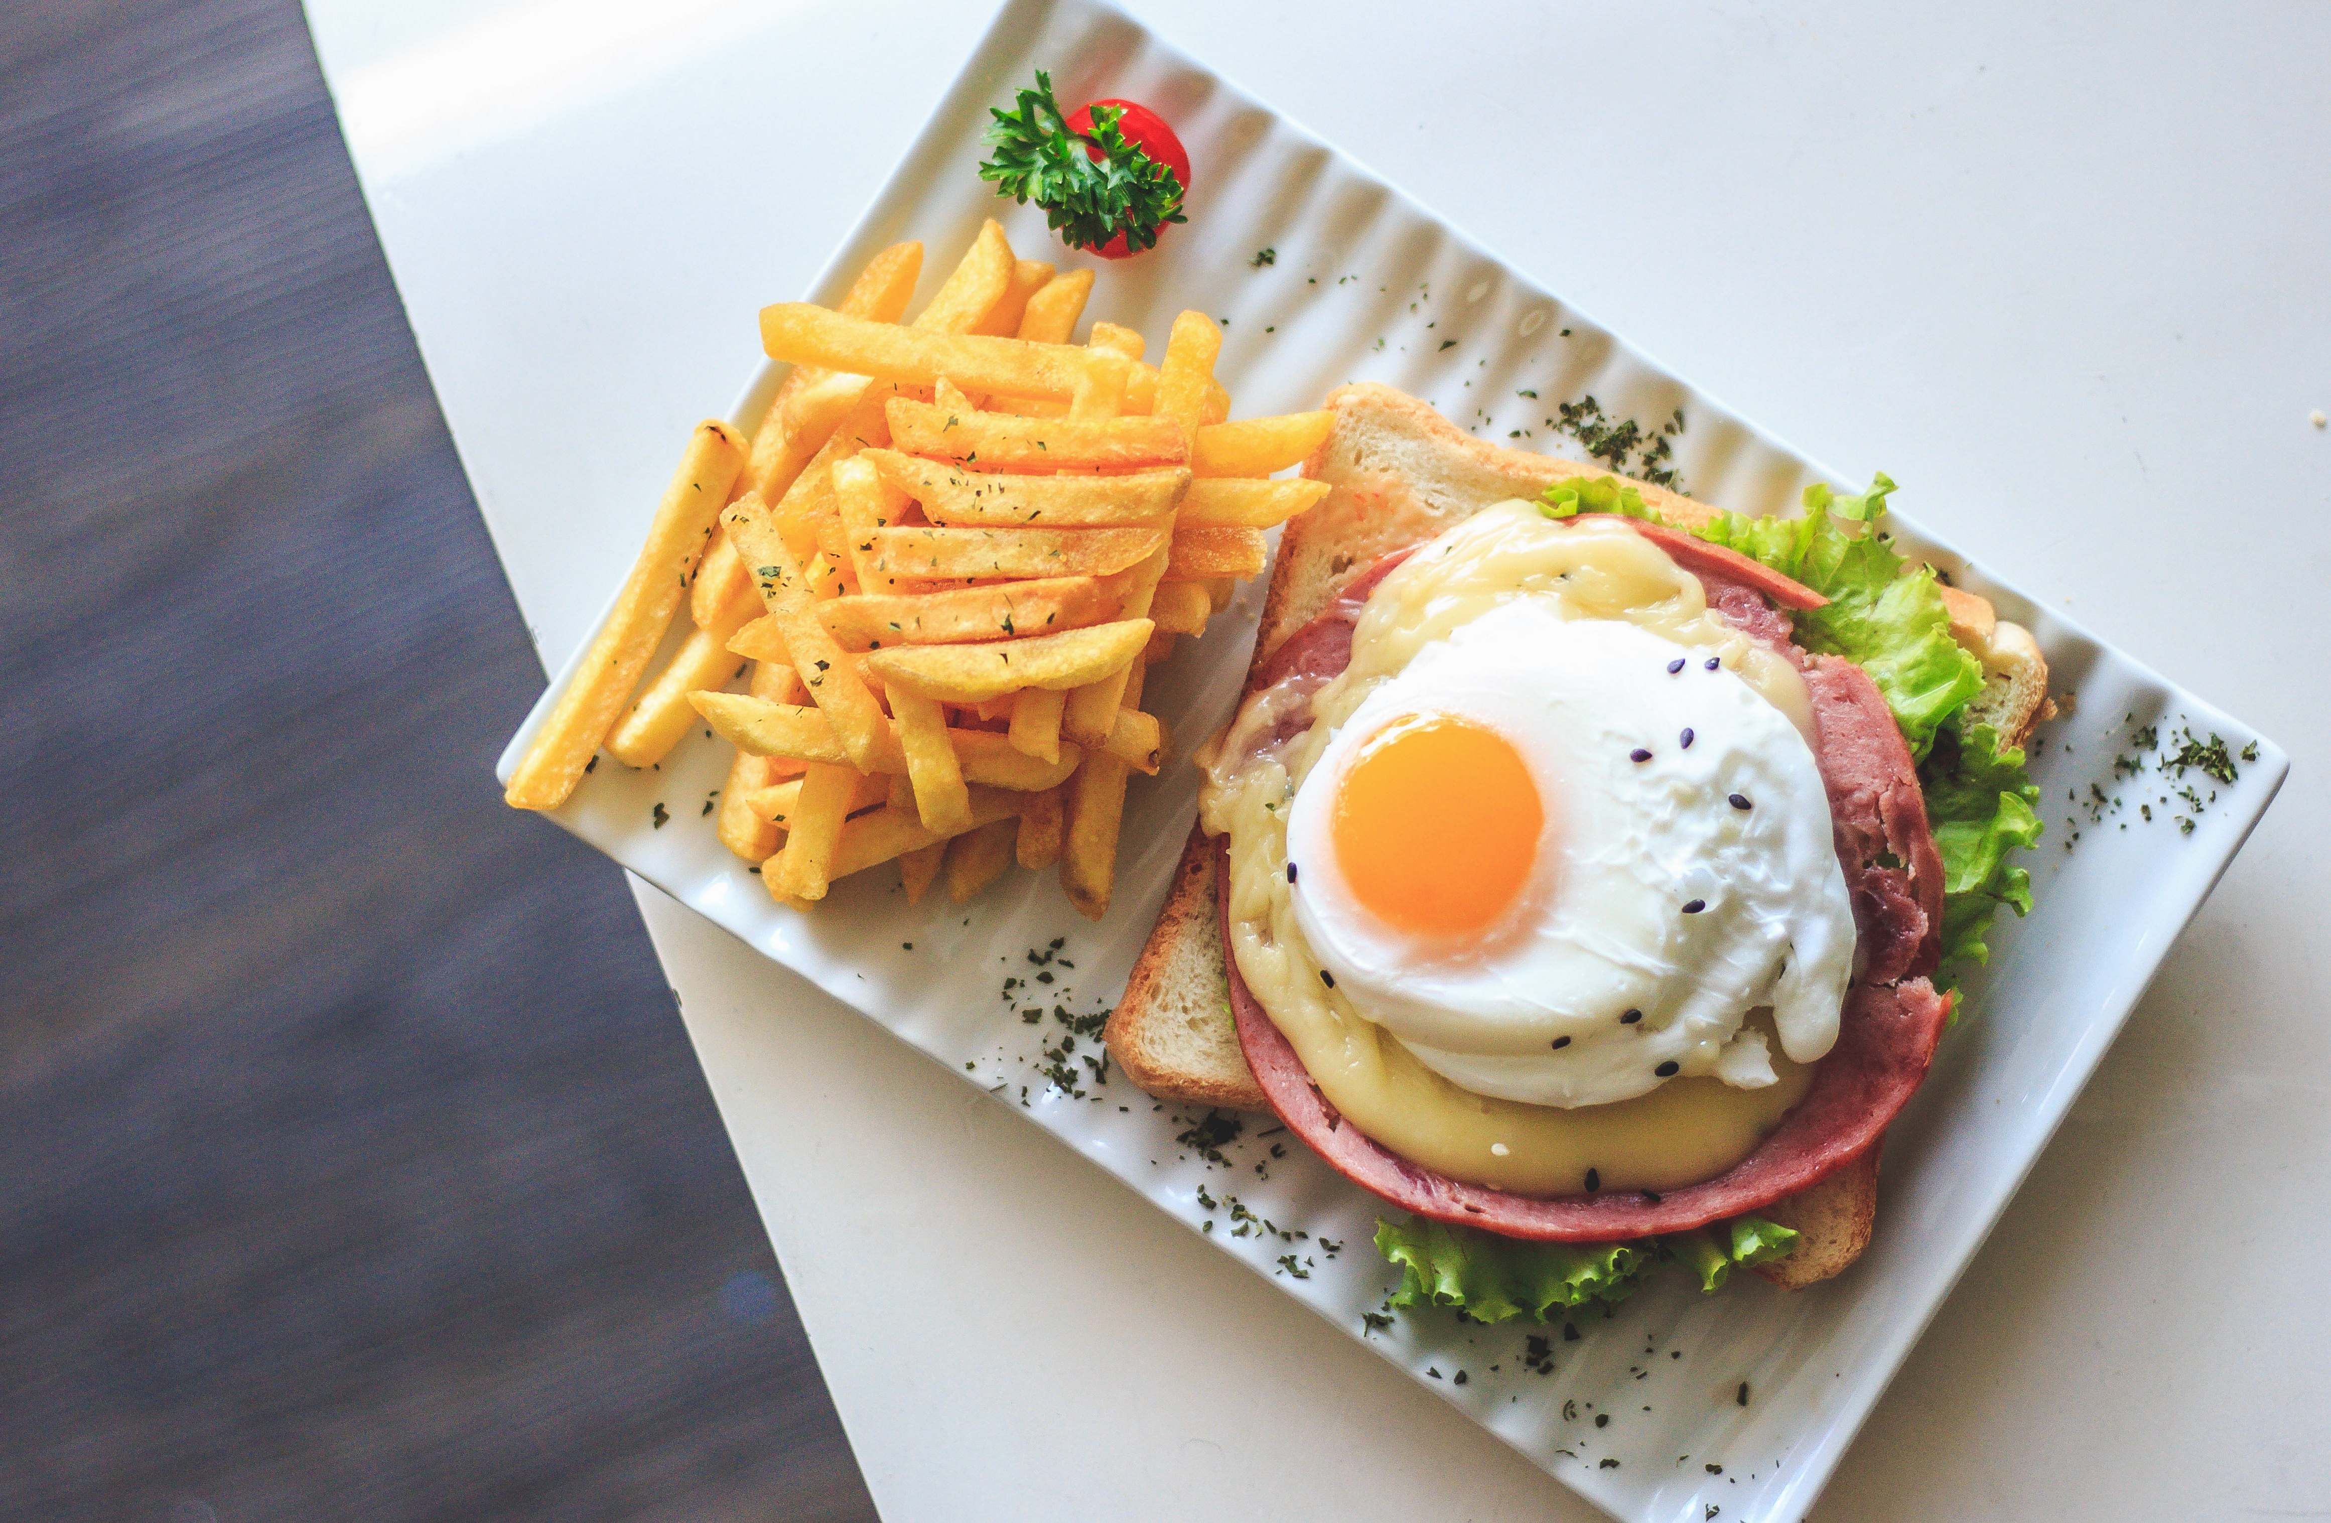
[[[1247,989],[1238,959],[1224,959],[1247,1066],[1296,1136],[1345,1178],[1394,1206],[1515,1238],[1604,1243],[1683,1231],[1758,1210],[1818,1182],[1876,1145],[1925,1078],[1951,1012],[1951,1001],[1923,977],[1932,973],[1942,940],[1942,856],[1928,828],[1909,746],[1869,674],[1834,655],[1807,655],[1790,641],[1788,613],[1772,606],[1818,609],[1825,599],[1734,550],[1660,525],[1625,522],[1699,576],[1709,606],[1753,639],[1790,655],[1814,700],[1814,760],[1830,795],[1862,970],[1846,991],[1837,1045],[1821,1059],[1811,1087],[1781,1127],[1713,1180],[1664,1194],[1613,1189],[1536,1199],[1466,1185],[1347,1127]],[[1368,567],[1319,618],[1287,637],[1256,665],[1249,693],[1287,679],[1317,688],[1343,672],[1352,662],[1352,630],[1368,592],[1408,555],[1410,550],[1396,550]],[[1301,730],[1308,711],[1298,707],[1282,723]],[[1217,865],[1224,947],[1231,945],[1228,863],[1224,842]]]

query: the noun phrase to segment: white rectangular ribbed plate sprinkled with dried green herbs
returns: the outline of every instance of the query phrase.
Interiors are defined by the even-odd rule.
[[[1566,441],[1548,427],[1555,406],[1592,394],[1615,417],[1660,422],[1683,408],[1674,462],[1702,499],[1788,511],[1809,480],[1830,478],[1140,23],[1084,0],[1016,0],[998,16],[825,268],[816,299],[834,301],[869,254],[900,238],[930,247],[928,294],[991,215],[1023,254],[1075,264],[1035,212],[993,198],[974,173],[988,105],[1037,68],[1063,100],[1131,96],[1159,107],[1189,145],[1189,224],[1166,233],[1159,257],[1103,264],[1089,317],[1138,327],[1152,343],[1182,308],[1226,320],[1219,373],[1238,415],[1310,408],[1345,380],[1382,380],[1485,438],[1562,450]],[[1275,250],[1275,261],[1256,264],[1261,250]],[[751,322],[753,313],[737,313],[739,329]],[[737,417],[755,420],[774,385],[776,371],[765,369]],[[1576,1341],[1562,1327],[1469,1327],[1436,1313],[1366,1332],[1364,1315],[1396,1283],[1368,1245],[1373,1196],[1259,1120],[1219,1161],[1207,1159],[1177,1141],[1198,1117],[1154,1106],[1124,1078],[1093,1082],[1086,1059],[1098,1059],[1098,1040],[1077,1038],[1063,1052],[1070,1033],[1054,1008],[1105,1010],[1166,896],[1196,809],[1186,765],[1135,779],[1117,903],[1098,926],[1068,907],[1049,875],[1012,875],[967,907],[944,896],[909,907],[895,877],[874,872],[881,882],[839,886],[814,917],[781,910],[704,819],[727,749],[702,730],[657,770],[599,765],[555,819],[1021,1108],[1604,1509],[1646,1523],[1795,1518],[2287,772],[2282,751],[2247,725],[1988,581],[1909,518],[1897,515],[1895,529],[2026,623],[2072,702],[2044,730],[2033,767],[2049,819],[2030,858],[2037,910],[2000,926],[1993,966],[1967,984],[1974,1019],[1949,1036],[1890,1131],[1876,1241],[1848,1276],[1811,1292],[1783,1294],[1741,1276],[1699,1297],[1669,1276],[1618,1315],[1580,1320]],[[1256,611],[1259,583],[1152,681],[1184,751],[1228,716]],[[571,669],[573,660],[513,737],[503,779]],[[2163,737],[2191,725],[2256,753],[2238,784],[2182,779],[2205,798],[2196,814],[2175,798],[2179,784],[2156,772],[2117,777],[2114,758],[2133,751],[2145,725]],[[2082,802],[2091,784],[2126,802],[2091,819]],[[2152,821],[2140,802],[2152,805]],[[2191,819],[2191,833],[2177,816]],[[1058,959],[1037,968],[1030,954],[1054,938],[1065,938]],[[1037,982],[1040,973],[1051,982]],[[1007,980],[1026,982],[1007,994]],[[1047,1082],[1047,1064],[1075,1071],[1075,1092]],[[1548,1339],[1550,1360],[1524,1357],[1531,1336]]]

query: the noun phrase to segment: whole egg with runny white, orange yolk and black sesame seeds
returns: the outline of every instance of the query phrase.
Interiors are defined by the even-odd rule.
[[[1601,1106],[1837,1040],[1853,905],[1797,725],[1704,646],[1524,595],[1427,644],[1287,805],[1319,980],[1452,1085]]]

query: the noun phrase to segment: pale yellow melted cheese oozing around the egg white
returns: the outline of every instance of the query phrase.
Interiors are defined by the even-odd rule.
[[[1476,513],[1392,571],[1368,597],[1352,665],[1312,695],[1312,725],[1270,744],[1275,716],[1317,679],[1247,700],[1200,765],[1200,814],[1231,837],[1231,954],[1319,1092],[1366,1136],[1450,1178],[1548,1196],[1676,1189],[1744,1159],[1811,1085],[1811,1066],[1774,1045],[1776,1080],[1734,1089],[1681,1078],[1611,1106],[1550,1108],[1459,1089],[1324,987],[1287,886],[1287,805],[1329,737],[1427,644],[1515,597],[1550,597],[1569,618],[1618,618],[1709,651],[1811,739],[1795,667],[1706,606],[1699,578],[1620,522],[1555,525],[1531,504]],[[1765,1012],[1751,1017],[1769,1033]]]

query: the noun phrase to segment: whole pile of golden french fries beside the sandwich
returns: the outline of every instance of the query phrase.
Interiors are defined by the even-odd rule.
[[[1326,494],[1273,473],[1331,415],[1226,422],[1203,313],[1156,366],[1117,324],[1072,343],[1093,273],[1014,259],[995,222],[900,322],[921,266],[900,243],[837,308],[762,310],[793,371],[751,443],[690,436],[510,805],[559,807],[601,746],[660,763],[702,716],[737,746],[720,840],[781,903],[893,861],[909,900],[944,872],[960,903],[1019,861],[1110,907],[1126,779],[1168,749],[1145,672]]]

